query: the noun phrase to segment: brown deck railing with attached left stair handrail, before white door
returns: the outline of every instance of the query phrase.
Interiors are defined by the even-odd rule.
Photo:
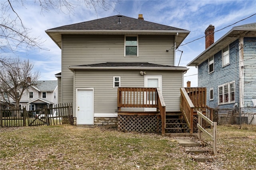
[[[118,87],[118,111],[122,107],[156,108],[161,115],[162,134],[165,128],[166,106],[159,88],[150,87]]]

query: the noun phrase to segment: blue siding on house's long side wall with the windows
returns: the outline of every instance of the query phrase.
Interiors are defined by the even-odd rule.
[[[206,105],[210,107],[233,107],[234,103],[218,105],[218,86],[232,81],[235,81],[235,101],[239,105],[238,40],[230,43],[229,50],[229,65],[222,67],[222,50],[220,49],[218,53],[214,54],[214,72],[208,73],[208,59],[198,66],[198,86],[206,87]],[[212,101],[209,96],[211,88],[214,89],[214,100]]]

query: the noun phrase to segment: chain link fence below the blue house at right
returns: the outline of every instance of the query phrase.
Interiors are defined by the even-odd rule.
[[[215,117],[218,125],[230,124],[230,125],[256,125],[256,107],[240,107],[220,109],[215,108]]]

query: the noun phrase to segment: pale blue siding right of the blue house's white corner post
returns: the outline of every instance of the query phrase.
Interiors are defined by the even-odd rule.
[[[244,38],[244,106],[256,99],[256,38]]]

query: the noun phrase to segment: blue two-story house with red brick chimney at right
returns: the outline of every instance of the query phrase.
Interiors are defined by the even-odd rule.
[[[187,66],[198,67],[198,86],[206,87],[213,108],[256,106],[256,23],[233,27],[214,43],[206,31],[206,50]]]

